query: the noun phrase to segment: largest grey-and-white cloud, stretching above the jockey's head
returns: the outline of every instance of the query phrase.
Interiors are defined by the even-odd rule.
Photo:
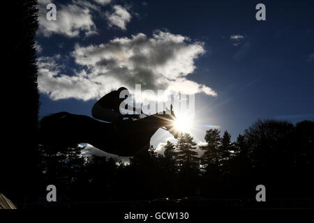
[[[98,99],[119,86],[133,91],[135,84],[141,83],[142,90],[164,90],[167,95],[215,96],[216,92],[209,86],[186,79],[195,70],[195,59],[204,53],[203,43],[163,31],[156,31],[151,38],[138,33],[100,45],[76,45],[71,56],[78,70],[73,74],[62,72],[60,56],[38,59],[39,89],[52,100]],[[156,100],[151,95],[142,97]]]

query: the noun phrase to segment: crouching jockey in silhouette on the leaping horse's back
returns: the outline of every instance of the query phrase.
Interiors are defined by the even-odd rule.
[[[123,91],[123,92],[122,92]],[[121,93],[122,92],[122,93]],[[128,98],[129,92],[125,87],[119,88],[117,91],[111,91],[107,93],[103,98],[100,98],[93,108],[91,109],[91,115],[103,121],[108,121],[111,123],[119,123],[124,117],[130,115],[123,115],[120,112],[120,105],[126,98]],[[136,112],[134,107],[125,104],[124,109]],[[131,115],[133,117],[139,118],[140,114]]]

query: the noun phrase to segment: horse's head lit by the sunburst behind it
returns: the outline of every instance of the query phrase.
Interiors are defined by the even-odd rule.
[[[165,130],[170,132],[175,139],[181,137],[182,132],[174,126],[174,121],[177,117],[174,115],[172,105],[170,106],[170,110],[166,108],[163,114],[158,114],[158,117],[160,117],[160,121],[163,123]]]

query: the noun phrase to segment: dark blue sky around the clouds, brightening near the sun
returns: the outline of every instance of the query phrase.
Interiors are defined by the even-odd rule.
[[[95,16],[97,35],[38,35],[43,48],[38,57],[66,56],[75,43],[99,45],[136,33],[150,37],[161,29],[201,41],[207,50],[195,60],[196,69],[187,79],[210,86],[218,96],[196,95],[197,125],[219,125],[236,139],[258,118],[314,120],[314,1],[145,2],[110,3],[130,7],[133,17],[124,31],[108,29],[107,22]],[[255,20],[257,3],[265,4],[266,21]],[[232,35],[244,38],[232,40]],[[66,63],[71,75],[75,63],[71,59]],[[40,102],[40,116],[60,111],[90,115],[96,100],[53,101],[41,94]],[[195,132],[197,141],[202,137],[204,131]]]

